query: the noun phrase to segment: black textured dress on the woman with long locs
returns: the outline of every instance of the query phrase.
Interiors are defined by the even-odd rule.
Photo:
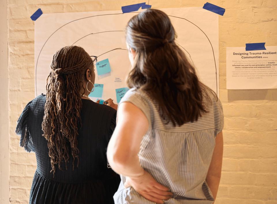
[[[20,146],[27,152],[34,151],[37,170],[30,192],[30,204],[92,204],[114,203],[120,177],[107,167],[106,151],[115,129],[115,109],[82,99],[81,121],[78,127],[79,166],[77,159],[72,170],[73,157],[55,166],[53,177],[47,140],[42,136],[45,95],[30,101],[18,119],[16,134],[20,135]]]

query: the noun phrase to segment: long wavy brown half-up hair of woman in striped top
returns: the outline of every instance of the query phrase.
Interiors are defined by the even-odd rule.
[[[148,92],[158,102],[164,122],[181,126],[206,112],[202,101],[208,95],[203,91],[210,89],[199,81],[175,38],[164,12],[148,9],[133,16],[126,27],[126,43],[136,56],[127,84]]]

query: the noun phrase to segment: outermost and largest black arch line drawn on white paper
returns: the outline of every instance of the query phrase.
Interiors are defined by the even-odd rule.
[[[132,12],[132,13],[140,13],[140,12]],[[118,13],[118,14],[123,14],[123,13]],[[85,18],[91,18],[91,17],[96,17],[96,16],[108,16],[108,15],[118,15],[118,14],[102,14],[102,15],[95,15],[95,16],[88,16],[88,17],[85,17]],[[126,13],[125,13],[126,14]],[[169,15],[170,16],[170,15]],[[184,20],[186,20],[186,21],[188,21],[188,22],[190,22],[189,20],[187,20],[186,18],[181,18],[181,17],[177,17],[177,16],[171,16],[171,17],[175,17],[175,18],[180,18],[180,19],[184,19]],[[72,23],[72,22],[74,22],[74,21],[77,21],[77,20],[82,20],[82,19],[85,19],[85,18],[79,18],[79,19],[76,19],[76,20],[72,20],[72,21],[70,21],[69,23]],[[67,25],[67,24],[69,24],[69,23],[66,23],[65,25]],[[190,23],[192,23],[192,22],[190,22]],[[195,25],[194,23],[192,23],[193,25]],[[64,27],[65,25],[63,25],[63,26],[61,26],[61,27],[59,27],[55,32],[57,32],[59,29],[61,29],[62,27]],[[201,30],[197,25],[195,25],[199,30]],[[202,30],[201,30],[202,31]],[[55,33],[54,32],[54,33]],[[202,31],[203,33],[204,33],[204,31]],[[49,36],[49,38],[54,34],[54,33],[52,33],[50,36]],[[205,33],[204,33],[205,34]],[[209,40],[209,38],[208,38],[208,36],[205,34],[205,36],[207,37],[207,39]],[[49,40],[49,38],[46,40],[46,42]],[[46,42],[44,43],[44,45],[46,44]],[[211,41],[209,40],[209,43],[211,44],[211,46],[212,46],[212,43],[211,43]],[[41,53],[41,51],[42,51],[42,49],[44,48],[44,45],[42,46],[42,48],[41,48],[41,50],[40,50],[40,53]],[[214,55],[214,48],[213,48],[213,46],[212,46],[212,50],[213,50],[213,55]],[[40,53],[39,53],[39,55],[38,55],[38,59],[39,59],[39,57],[40,57]],[[37,63],[36,63],[36,66],[35,66],[35,88],[36,88],[36,94],[38,95],[38,93],[37,93],[37,66],[38,66],[38,59],[37,59]],[[216,67],[216,59],[215,59],[215,57],[214,57],[214,63],[215,63],[215,67]],[[217,72],[216,72],[216,95],[217,95],[217,92],[218,92],[218,87],[217,87]]]

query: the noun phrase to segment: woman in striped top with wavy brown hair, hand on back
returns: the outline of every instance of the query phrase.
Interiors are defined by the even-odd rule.
[[[212,204],[223,153],[223,111],[175,43],[169,17],[149,9],[132,17],[126,44],[131,88],[121,99],[108,145],[121,174],[115,203]]]

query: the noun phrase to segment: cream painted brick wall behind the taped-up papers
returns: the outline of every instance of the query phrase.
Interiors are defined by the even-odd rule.
[[[7,1],[9,86],[5,102],[9,104],[10,158],[6,165],[10,167],[7,176],[11,203],[28,203],[36,169],[35,154],[27,154],[20,148],[19,137],[14,133],[20,113],[34,98],[34,23],[30,16],[38,8],[44,13],[104,11],[121,10],[121,6],[142,2],[145,1]],[[150,0],[149,4],[152,8],[175,8],[203,6],[206,2]],[[277,45],[276,0],[210,3],[226,9],[224,16],[219,16],[220,100],[225,126],[222,179],[216,204],[277,203],[277,89],[226,89],[226,47],[244,47],[245,43],[256,42]],[[2,80],[6,79],[1,75],[1,86]],[[1,141],[2,137],[1,131]],[[2,146],[0,151],[2,155]],[[1,182],[1,189],[7,182]]]

